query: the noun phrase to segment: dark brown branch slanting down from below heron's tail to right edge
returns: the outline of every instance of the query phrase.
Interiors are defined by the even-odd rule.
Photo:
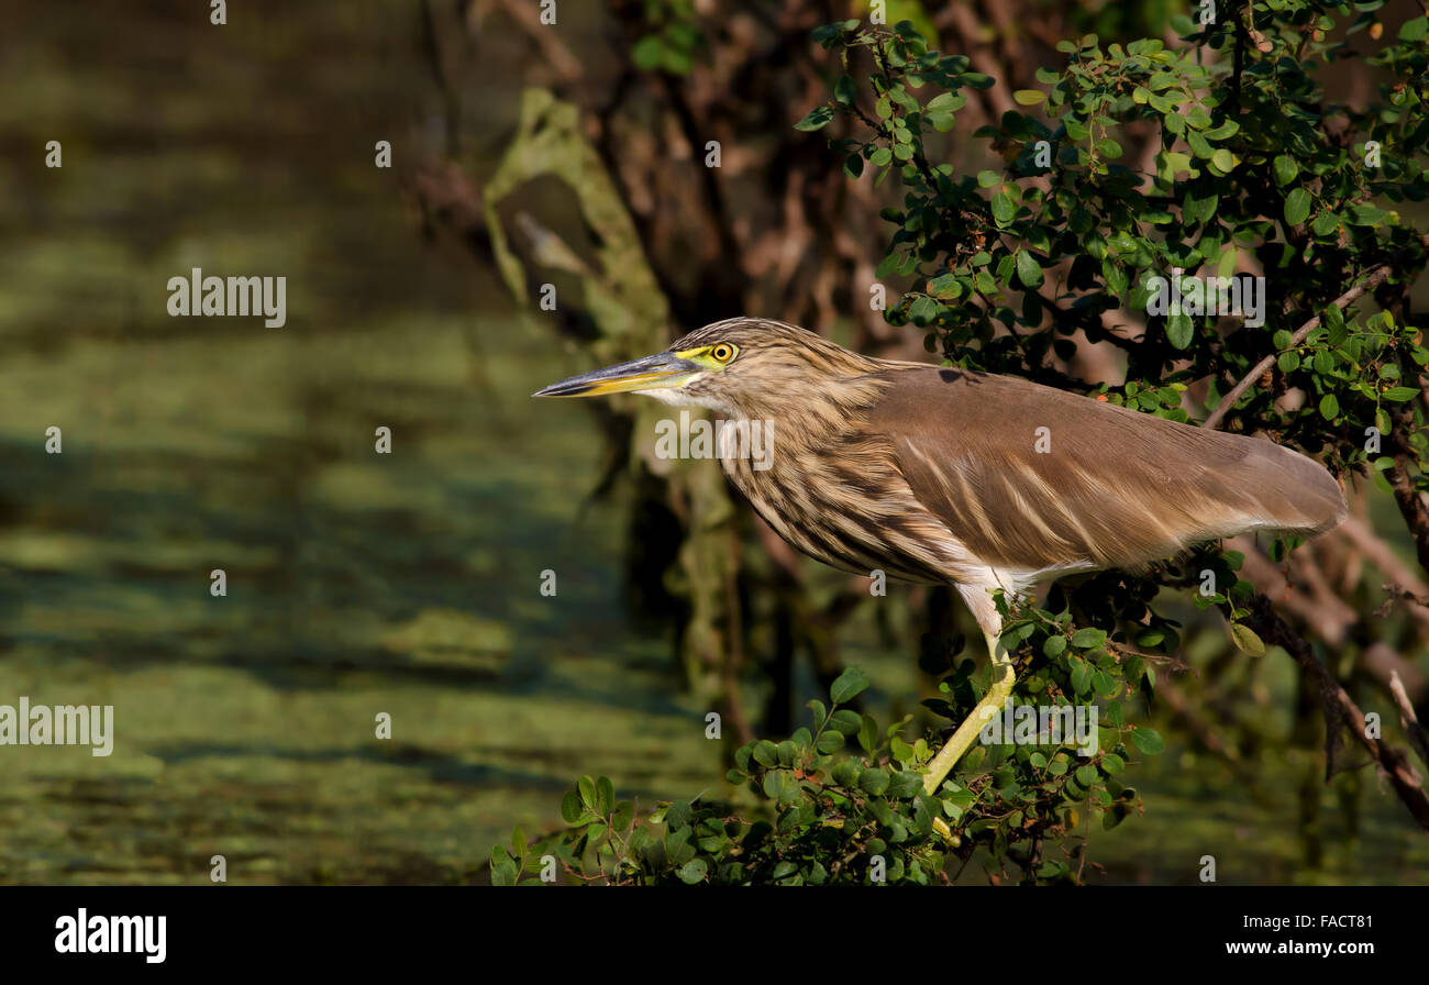
[[[1320,711],[1325,713],[1325,776],[1329,779],[1335,765],[1335,745],[1340,726],[1349,729],[1350,735],[1365,748],[1379,763],[1389,785],[1395,789],[1399,801],[1405,805],[1415,821],[1429,832],[1429,793],[1425,792],[1423,782],[1409,762],[1408,753],[1386,743],[1380,738],[1370,738],[1365,723],[1365,713],[1355,705],[1329,669],[1315,659],[1310,645],[1305,642],[1270,605],[1270,599],[1259,592],[1250,598],[1250,616],[1245,620],[1266,643],[1283,646],[1285,650],[1300,665],[1300,670],[1315,682],[1320,701]]]

